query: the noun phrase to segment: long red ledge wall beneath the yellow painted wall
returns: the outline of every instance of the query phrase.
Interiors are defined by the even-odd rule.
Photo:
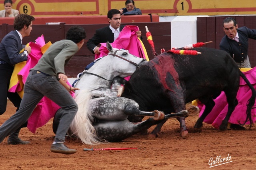
[[[0,24],[13,24],[14,18],[0,18]],[[46,24],[49,22],[64,22],[66,24],[104,24],[108,23],[107,16],[52,16],[52,17],[35,17],[33,24]],[[159,22],[158,15],[136,15],[122,16],[122,23],[138,22]]]

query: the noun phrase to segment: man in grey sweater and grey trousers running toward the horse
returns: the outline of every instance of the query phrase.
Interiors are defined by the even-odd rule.
[[[68,77],[65,75],[64,66],[80,50],[85,37],[84,28],[70,27],[66,33],[66,39],[52,44],[36,66],[30,69],[24,85],[24,96],[20,109],[0,127],[0,143],[28,120],[38,102],[46,96],[63,109],[63,116],[50,150],[62,154],[77,152],[77,150],[69,149],[64,145],[66,133],[78,110],[77,104],[69,92],[79,90],[66,83]]]

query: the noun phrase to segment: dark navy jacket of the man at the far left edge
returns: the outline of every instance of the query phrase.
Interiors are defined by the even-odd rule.
[[[24,45],[22,46],[17,31],[11,31],[4,36],[0,43],[0,60],[12,66],[22,61],[27,61],[26,54],[20,53],[22,48],[24,48]]]

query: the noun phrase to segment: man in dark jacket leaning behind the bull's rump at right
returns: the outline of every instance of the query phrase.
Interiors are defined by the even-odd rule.
[[[220,41],[220,49],[227,51],[239,68],[250,68],[248,39],[256,39],[256,29],[238,28],[236,20],[228,17],[223,20],[223,30],[226,35]]]

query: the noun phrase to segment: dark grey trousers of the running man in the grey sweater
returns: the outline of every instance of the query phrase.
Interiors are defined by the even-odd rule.
[[[28,120],[34,108],[44,96],[63,109],[54,141],[65,142],[66,133],[76,115],[78,106],[69,92],[54,76],[46,76],[37,73],[37,70],[31,70],[24,86],[20,109],[0,127],[0,143]]]

